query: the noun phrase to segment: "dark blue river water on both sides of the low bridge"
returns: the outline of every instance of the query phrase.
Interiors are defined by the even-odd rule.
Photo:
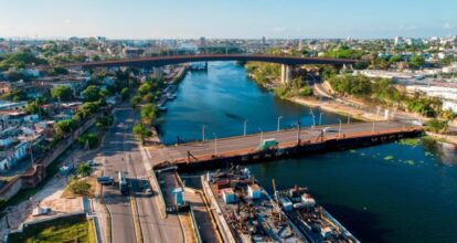
[[[189,72],[160,125],[166,144],[319,124],[318,109],[275,98],[230,62]],[[323,113],[322,124],[336,124]],[[431,141],[398,142],[249,166],[272,191],[308,187],[311,194],[362,242],[457,242],[457,152]]]

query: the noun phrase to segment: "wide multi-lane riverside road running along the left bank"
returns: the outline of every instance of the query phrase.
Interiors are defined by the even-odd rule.
[[[128,104],[124,104],[114,113],[115,123],[109,128],[102,145],[103,169],[105,176],[117,180],[117,171],[126,171],[129,181],[142,180],[150,169],[150,161],[145,152],[141,152],[131,128],[139,119],[139,112],[132,110]],[[139,225],[144,242],[182,242],[182,233],[178,218],[161,219],[159,205],[153,196],[147,196],[138,187],[131,187],[130,197],[135,197],[138,211]],[[111,215],[111,239],[117,242],[137,242],[132,208],[130,198],[121,196],[117,187],[104,187],[104,199]]]

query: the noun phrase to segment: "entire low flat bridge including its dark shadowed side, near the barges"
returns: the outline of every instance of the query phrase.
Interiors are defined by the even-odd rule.
[[[156,168],[172,165],[180,170],[205,169],[365,147],[422,133],[422,127],[401,122],[339,124],[177,144],[150,152]],[[259,144],[266,139],[274,139],[277,146],[259,149]]]

